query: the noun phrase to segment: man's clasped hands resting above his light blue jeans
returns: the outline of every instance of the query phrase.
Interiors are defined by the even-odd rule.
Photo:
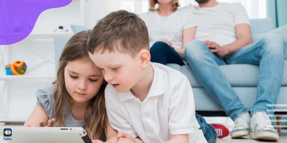
[[[224,57],[229,53],[228,49],[220,47],[220,45],[218,45],[215,42],[203,41],[203,43],[210,48],[210,51],[212,53],[216,53],[216,55],[218,55],[218,57]]]

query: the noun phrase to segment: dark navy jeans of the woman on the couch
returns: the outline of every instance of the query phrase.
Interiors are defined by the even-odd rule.
[[[179,53],[164,42],[159,41],[154,43],[150,48],[150,56],[150,61],[154,63],[161,63],[163,65],[166,65],[166,63],[176,63],[181,66],[185,65]]]

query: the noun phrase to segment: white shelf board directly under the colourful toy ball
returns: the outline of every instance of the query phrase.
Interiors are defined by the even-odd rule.
[[[41,80],[41,81],[50,81],[56,80],[56,77],[43,77],[43,76],[31,76],[31,75],[5,75],[0,76],[0,80]]]

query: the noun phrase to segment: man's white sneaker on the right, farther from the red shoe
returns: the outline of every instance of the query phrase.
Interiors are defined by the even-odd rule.
[[[269,141],[278,141],[278,132],[274,129],[270,117],[265,112],[255,112],[251,117],[250,138]]]

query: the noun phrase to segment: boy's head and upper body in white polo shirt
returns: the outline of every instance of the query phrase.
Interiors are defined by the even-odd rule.
[[[112,128],[122,131],[118,143],[207,143],[187,77],[150,62],[148,30],[136,14],[120,10],[106,15],[86,47],[109,83],[106,111]]]

